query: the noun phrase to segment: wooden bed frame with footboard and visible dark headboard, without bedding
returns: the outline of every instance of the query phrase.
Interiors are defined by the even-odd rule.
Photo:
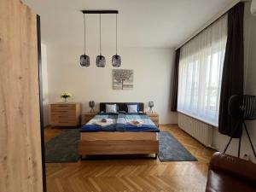
[[[131,102],[129,102],[130,104]],[[133,102],[132,102],[133,103]],[[105,102],[100,103],[104,111]],[[119,110],[124,110],[126,103],[119,104]],[[139,110],[143,111],[143,103],[139,103]],[[124,110],[125,111],[125,110]],[[157,132],[81,132],[79,154],[157,154],[159,141]]]

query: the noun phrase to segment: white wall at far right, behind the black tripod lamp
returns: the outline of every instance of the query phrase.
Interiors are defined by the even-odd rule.
[[[256,17],[253,17],[249,12],[249,3],[246,3],[245,9],[245,94],[256,96]],[[253,140],[253,146],[256,149],[256,120],[247,121],[248,131]],[[218,150],[223,151],[230,137],[226,137],[214,130],[213,146]],[[238,139],[233,139],[228,149],[228,154],[237,155]],[[245,132],[243,132],[241,140],[241,155],[249,154],[250,159],[256,162],[253,156],[253,150],[248,142]]]

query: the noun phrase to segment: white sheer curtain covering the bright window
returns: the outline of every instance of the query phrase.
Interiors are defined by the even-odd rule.
[[[227,15],[181,48],[177,111],[218,125]]]

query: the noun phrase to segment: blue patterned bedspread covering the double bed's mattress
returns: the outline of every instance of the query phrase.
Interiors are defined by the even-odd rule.
[[[103,118],[113,119],[112,125],[94,125],[96,121]],[[143,121],[143,125],[131,125],[132,120]],[[98,113],[93,119],[81,127],[80,131],[129,131],[129,132],[159,132],[159,128],[145,113]]]

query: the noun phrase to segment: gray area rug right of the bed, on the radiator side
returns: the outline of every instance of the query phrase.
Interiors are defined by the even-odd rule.
[[[159,133],[159,143],[160,161],[196,161],[196,158],[169,132]]]

